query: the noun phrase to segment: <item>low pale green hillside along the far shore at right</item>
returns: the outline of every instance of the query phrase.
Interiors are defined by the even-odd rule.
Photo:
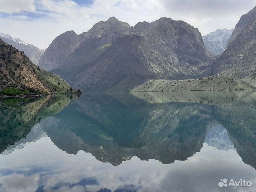
[[[206,90],[248,90],[255,87],[229,76],[208,76],[186,80],[149,80],[132,91],[206,91]]]

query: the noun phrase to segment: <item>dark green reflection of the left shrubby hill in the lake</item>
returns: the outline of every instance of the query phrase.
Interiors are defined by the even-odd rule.
[[[70,100],[68,95],[0,100],[0,153],[25,138],[36,123],[60,112]]]

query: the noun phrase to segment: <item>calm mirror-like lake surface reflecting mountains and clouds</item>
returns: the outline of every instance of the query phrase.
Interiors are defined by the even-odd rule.
[[[256,92],[0,100],[0,152],[0,192],[256,191]]]

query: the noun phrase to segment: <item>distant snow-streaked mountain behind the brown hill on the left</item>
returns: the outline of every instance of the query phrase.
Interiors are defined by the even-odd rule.
[[[41,58],[42,54],[44,53],[44,49],[39,49],[31,44],[28,44],[21,39],[12,38],[9,34],[0,33],[0,38],[12,45],[13,47],[17,48],[20,51],[24,51],[24,53],[30,58],[32,63],[38,64],[38,60]]]

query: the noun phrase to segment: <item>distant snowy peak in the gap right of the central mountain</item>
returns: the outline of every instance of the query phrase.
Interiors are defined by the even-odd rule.
[[[203,37],[206,49],[214,55],[223,53],[233,31],[234,29],[218,29],[207,34]]]

